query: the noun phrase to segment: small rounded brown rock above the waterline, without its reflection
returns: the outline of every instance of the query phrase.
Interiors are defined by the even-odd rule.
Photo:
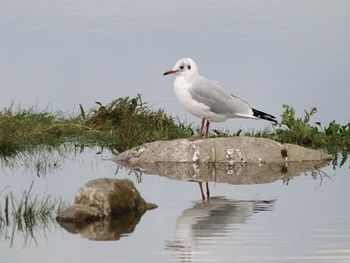
[[[139,220],[146,210],[156,207],[155,204],[146,203],[132,181],[100,178],[81,187],[75,195],[74,204],[62,210],[56,219],[58,222],[74,223],[81,228],[79,224],[101,218],[113,220],[123,215],[132,215]]]

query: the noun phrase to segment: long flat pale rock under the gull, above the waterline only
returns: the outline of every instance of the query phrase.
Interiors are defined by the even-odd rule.
[[[145,163],[285,163],[330,160],[321,151],[254,137],[155,141],[127,150],[113,160]]]

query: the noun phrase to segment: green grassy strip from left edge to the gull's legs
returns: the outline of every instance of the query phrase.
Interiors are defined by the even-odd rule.
[[[102,146],[118,151],[160,139],[189,137],[193,131],[168,116],[153,111],[141,96],[120,98],[109,105],[65,117],[63,113],[12,108],[0,112],[0,155],[13,156],[37,146],[56,148],[64,143]]]

